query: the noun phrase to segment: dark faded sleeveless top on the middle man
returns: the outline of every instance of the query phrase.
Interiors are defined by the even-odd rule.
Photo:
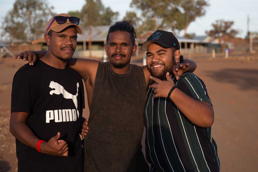
[[[136,171],[144,105],[142,66],[131,64],[128,73],[116,74],[110,62],[99,62],[84,138],[84,171]]]

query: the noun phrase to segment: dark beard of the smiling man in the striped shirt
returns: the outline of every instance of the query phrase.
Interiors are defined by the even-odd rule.
[[[163,70],[155,71],[147,65],[147,69],[150,72],[151,76],[159,78],[160,80],[167,80],[166,73],[169,72],[169,74],[172,74],[173,66],[176,64],[176,62],[173,56],[171,63],[169,63],[168,65],[165,65],[164,63],[157,63],[157,64],[163,65],[164,66]]]

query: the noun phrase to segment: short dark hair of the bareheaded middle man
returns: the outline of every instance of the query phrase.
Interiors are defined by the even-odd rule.
[[[134,27],[130,21],[119,21],[110,26],[109,31],[107,33],[107,42],[109,39],[109,34],[112,32],[120,31],[120,32],[128,32],[130,34],[130,40],[132,45],[135,45],[136,32],[134,31]]]

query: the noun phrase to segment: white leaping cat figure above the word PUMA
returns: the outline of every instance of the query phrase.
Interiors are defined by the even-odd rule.
[[[77,96],[78,96],[78,88],[79,88],[79,83],[76,84],[77,86],[77,93],[76,95],[73,95],[69,92],[67,92],[63,86],[61,86],[59,83],[56,83],[54,81],[50,81],[50,84],[49,84],[49,87],[51,89],[54,89],[54,90],[51,90],[49,92],[50,95],[53,95],[56,94],[56,95],[60,95],[62,94],[63,95],[63,98],[66,98],[66,99],[72,99],[75,107],[76,107],[76,110],[77,110],[77,116],[79,118],[79,111],[78,111],[78,101],[77,101]]]

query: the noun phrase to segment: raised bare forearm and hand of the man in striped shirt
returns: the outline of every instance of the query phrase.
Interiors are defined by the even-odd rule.
[[[168,97],[170,89],[174,86],[174,81],[170,78],[169,73],[166,74],[167,81],[159,80],[158,78],[151,77],[157,84],[152,84],[150,88],[154,89],[154,98]],[[180,109],[180,111],[192,123],[199,127],[210,127],[214,121],[214,111],[210,103],[204,101],[197,101],[180,89],[175,88],[170,95],[170,99]]]

